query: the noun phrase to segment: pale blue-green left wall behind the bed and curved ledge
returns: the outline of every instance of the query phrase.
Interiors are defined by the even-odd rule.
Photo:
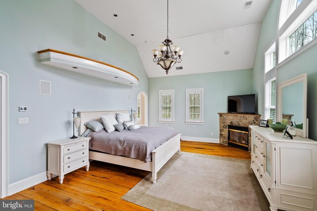
[[[73,0],[1,0],[0,29],[0,71],[9,74],[9,184],[46,171],[45,143],[71,136],[73,108],[136,110],[137,93],[148,92],[137,48]],[[103,59],[136,75],[139,86],[40,64],[37,51],[46,48]],[[39,80],[52,82],[52,95],[39,94]],[[28,125],[17,124],[23,117]]]

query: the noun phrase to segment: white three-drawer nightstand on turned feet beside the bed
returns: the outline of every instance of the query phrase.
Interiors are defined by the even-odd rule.
[[[58,175],[61,184],[66,173],[84,166],[88,171],[89,139],[87,137],[65,138],[47,143],[49,147],[48,179],[52,179],[52,174]]]

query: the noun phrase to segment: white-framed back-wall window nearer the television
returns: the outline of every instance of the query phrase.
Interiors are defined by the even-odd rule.
[[[186,123],[204,124],[204,88],[186,88]]]

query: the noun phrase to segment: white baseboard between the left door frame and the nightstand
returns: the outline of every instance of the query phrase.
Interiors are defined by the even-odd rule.
[[[47,172],[45,171],[34,176],[30,176],[26,179],[22,179],[20,181],[9,184],[8,196],[48,180],[46,173]]]

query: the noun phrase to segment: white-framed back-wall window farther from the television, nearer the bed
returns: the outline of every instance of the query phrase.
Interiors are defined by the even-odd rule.
[[[159,90],[159,122],[174,123],[174,89]]]

